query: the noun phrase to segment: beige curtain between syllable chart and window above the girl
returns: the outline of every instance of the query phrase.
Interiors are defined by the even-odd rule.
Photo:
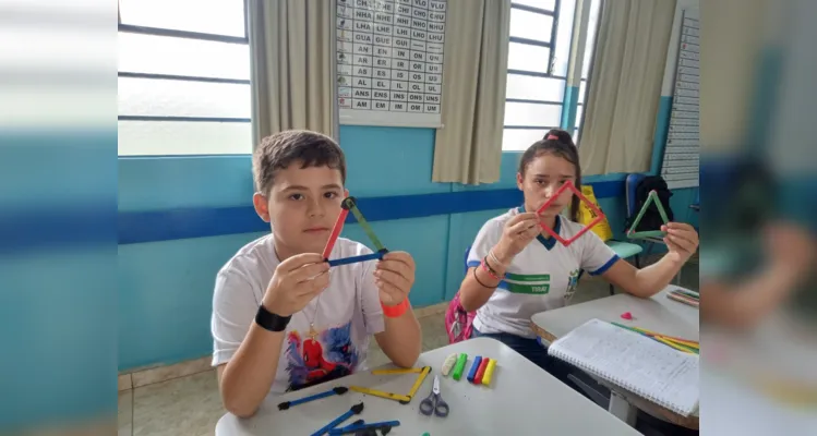
[[[500,180],[510,0],[448,0],[434,182]]]

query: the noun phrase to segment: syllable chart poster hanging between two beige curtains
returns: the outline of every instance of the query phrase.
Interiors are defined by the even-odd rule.
[[[341,124],[440,128],[445,0],[337,0]]]

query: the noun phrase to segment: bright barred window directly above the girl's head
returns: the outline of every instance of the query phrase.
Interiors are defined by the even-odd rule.
[[[600,0],[592,0],[579,101],[584,101]],[[502,149],[524,150],[562,121],[576,0],[513,0]],[[582,107],[576,116],[578,143]]]

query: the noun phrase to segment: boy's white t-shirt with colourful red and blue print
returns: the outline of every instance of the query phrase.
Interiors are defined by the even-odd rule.
[[[211,322],[213,366],[232,359],[255,322],[279,264],[274,241],[268,234],[244,245],[218,271]],[[369,253],[365,245],[338,238],[329,258]],[[287,326],[271,392],[298,390],[367,368],[370,336],[385,329],[373,271],[374,262],[329,270],[329,287],[293,314]],[[314,337],[310,337],[311,323]]]

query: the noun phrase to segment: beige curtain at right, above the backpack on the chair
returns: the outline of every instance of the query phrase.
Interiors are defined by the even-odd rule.
[[[582,172],[650,169],[675,0],[603,2],[581,130]]]

